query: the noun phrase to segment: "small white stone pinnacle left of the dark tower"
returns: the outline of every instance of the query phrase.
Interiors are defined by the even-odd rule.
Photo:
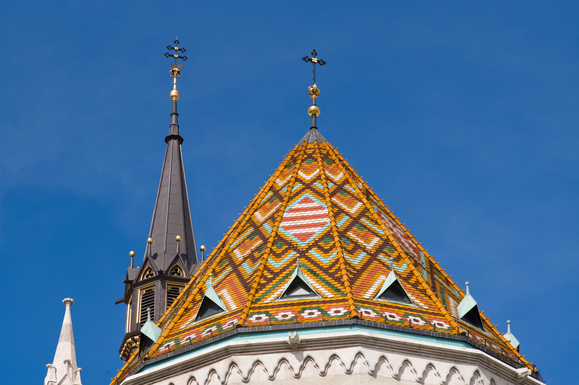
[[[72,298],[64,298],[63,303],[66,306],[63,327],[60,330],[54,361],[52,364],[46,365],[48,372],[44,380],[45,385],[56,383],[81,385],[79,373],[82,369],[76,367],[76,352],[72,334],[71,305],[74,301]]]

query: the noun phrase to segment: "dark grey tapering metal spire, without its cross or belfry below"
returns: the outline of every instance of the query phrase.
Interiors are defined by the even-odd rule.
[[[165,137],[167,151],[165,152],[159,192],[157,193],[151,231],[149,232],[149,237],[153,239],[151,256],[155,259],[157,266],[163,271],[167,271],[171,267],[169,265],[177,254],[177,241],[175,240],[177,235],[181,236],[179,254],[181,254],[182,260],[188,264],[184,268],[190,269],[197,262],[189,196],[187,194],[181,153],[183,138],[179,135],[179,123],[177,120],[179,116],[177,113],[178,94],[172,99],[173,110],[171,112],[169,135]]]

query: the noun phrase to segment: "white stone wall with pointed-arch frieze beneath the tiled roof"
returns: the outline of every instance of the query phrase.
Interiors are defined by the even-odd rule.
[[[517,379],[514,368],[468,347],[360,331],[300,336],[295,349],[288,342],[222,343],[146,369],[123,385],[540,384]]]

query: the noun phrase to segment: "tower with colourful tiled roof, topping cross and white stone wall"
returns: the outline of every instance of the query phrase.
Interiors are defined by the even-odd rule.
[[[318,131],[325,62],[303,60],[306,135],[111,385],[544,383],[510,326],[478,308],[484,288],[462,290]]]

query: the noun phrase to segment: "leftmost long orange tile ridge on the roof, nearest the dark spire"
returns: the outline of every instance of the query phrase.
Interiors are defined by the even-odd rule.
[[[244,210],[245,216],[244,216],[243,220],[241,221],[240,226],[237,226],[237,227],[243,228],[245,223],[247,223],[248,219],[251,218],[252,214],[255,212],[255,208],[259,205],[259,203],[261,202],[263,197],[265,197],[265,194],[267,194],[267,191],[269,191],[269,188],[272,187],[273,183],[277,180],[277,177],[280,175],[281,170],[283,168],[285,168],[285,165],[290,161],[291,157],[294,155],[296,150],[297,150],[297,146],[294,147],[294,149],[290,151],[290,154],[288,154],[285,157],[285,160],[283,162],[281,162],[280,166],[278,166],[278,168],[276,169],[276,172],[274,172],[273,175],[270,176],[270,178],[267,181],[267,183],[265,184],[265,186],[263,186],[261,188],[261,191],[259,192],[259,194],[257,194],[255,196],[255,198],[252,199],[252,201],[251,201],[252,203],[250,205],[248,205],[247,208],[245,208],[245,210]],[[243,214],[242,214],[242,216],[243,216]],[[241,219],[242,216],[240,216],[239,219]],[[237,221],[239,221],[239,219],[237,219]],[[232,231],[234,227],[236,227],[236,226],[235,225],[232,226],[229,229],[229,232]],[[229,234],[229,232],[228,232],[228,234]],[[201,283],[203,283],[207,280],[207,278],[209,277],[209,274],[215,269],[215,266],[217,266],[219,264],[219,261],[221,261],[221,258],[223,257],[223,255],[225,255],[226,251],[231,246],[233,239],[237,236],[236,233],[237,233],[237,235],[239,235],[239,229],[236,229],[236,231],[233,233],[234,236],[229,238],[229,241],[226,243],[225,247],[223,247],[221,252],[219,252],[219,255],[217,256],[217,258],[215,258],[215,261],[213,261],[213,263],[211,264],[210,268],[208,268],[207,271],[205,272],[203,279],[201,279],[199,282],[197,282],[197,284],[195,285],[195,288],[189,294],[189,297],[185,301],[184,305],[181,306],[181,309],[179,309],[177,314],[175,314],[175,316],[173,317],[173,320],[171,320],[171,323],[168,325],[168,327],[164,328],[163,333],[159,336],[159,339],[157,339],[157,341],[155,342],[155,345],[153,345],[151,347],[151,349],[149,349],[148,354],[155,353],[155,351],[157,349],[159,349],[159,347],[161,346],[161,343],[163,343],[164,339],[167,338],[167,335],[169,334],[171,329],[174,327],[175,324],[177,324],[177,321],[179,321],[182,314],[185,312],[185,309],[188,308],[190,303],[193,301],[193,298],[195,298],[197,293],[199,293]],[[226,238],[228,238],[228,236],[225,234],[220,243],[222,243],[223,240]],[[216,249],[214,249],[214,250],[216,250]],[[210,256],[207,257],[207,261],[209,261],[209,258],[210,258]],[[199,269],[199,271],[201,271],[201,269]]]

